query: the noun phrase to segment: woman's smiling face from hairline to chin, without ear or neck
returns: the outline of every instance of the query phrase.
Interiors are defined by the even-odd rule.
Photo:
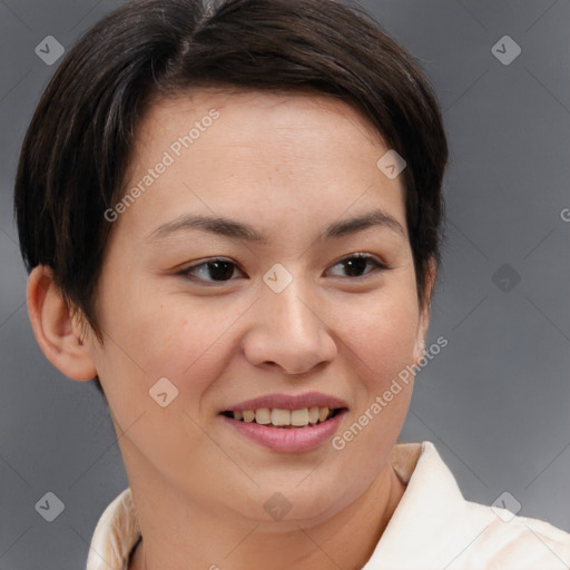
[[[426,325],[389,148],[340,101],[206,90],[137,140],[89,348],[129,480],[226,519],[275,492],[340,512],[386,468]]]

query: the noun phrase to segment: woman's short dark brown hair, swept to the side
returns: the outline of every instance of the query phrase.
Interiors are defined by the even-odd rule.
[[[412,57],[367,12],[335,0],[139,0],[96,23],[46,88],[21,149],[14,213],[28,272],[49,265],[102,343],[95,299],[112,226],[104,213],[124,191],[136,127],[153,97],[215,86],[308,90],[364,114],[407,163],[423,306],[442,238],[441,111]]]

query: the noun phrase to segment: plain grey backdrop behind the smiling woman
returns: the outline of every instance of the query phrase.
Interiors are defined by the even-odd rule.
[[[19,147],[58,65],[35,48],[47,36],[69,48],[120,3],[0,0],[1,570],[83,568],[99,515],[128,485],[95,386],[37,346],[12,222]],[[434,442],[468,499],[509,491],[519,514],[570,531],[570,2],[363,4],[420,59],[451,144],[428,342],[449,345],[417,376],[401,441]],[[522,49],[508,66],[491,50],[505,35]],[[47,492],[65,503],[53,522],[35,509]]]

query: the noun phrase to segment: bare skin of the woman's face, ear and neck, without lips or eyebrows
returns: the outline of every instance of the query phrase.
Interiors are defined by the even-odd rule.
[[[126,188],[212,108],[219,118],[114,224],[97,298],[104,345],[92,334],[79,341],[48,267],[30,276],[32,326],[61,372],[101,381],[144,537],[130,570],[361,568],[405,490],[390,454],[412,383],[342,451],[330,441],[271,451],[218,413],[262,394],[317,391],[347,403],[342,434],[419,361],[429,313],[403,183],[379,170],[389,148],[341,101],[199,90],[150,107]],[[330,224],[377,208],[403,233],[375,226],[317,240]],[[198,229],[149,240],[181,214],[249,224],[267,243]],[[371,262],[353,276],[340,262],[357,253],[389,268]],[[230,281],[212,284],[204,265],[177,274],[213,257],[236,264]],[[278,294],[263,282],[276,263],[293,276]],[[166,407],[148,394],[163,376],[178,389]],[[282,521],[264,509],[275,492],[292,505]]]

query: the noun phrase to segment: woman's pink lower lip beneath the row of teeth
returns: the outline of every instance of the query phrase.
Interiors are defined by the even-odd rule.
[[[345,410],[326,422],[307,428],[271,428],[255,422],[233,420],[225,415],[220,417],[238,433],[265,448],[284,453],[303,453],[318,448],[331,439],[337,431],[344,413]]]

